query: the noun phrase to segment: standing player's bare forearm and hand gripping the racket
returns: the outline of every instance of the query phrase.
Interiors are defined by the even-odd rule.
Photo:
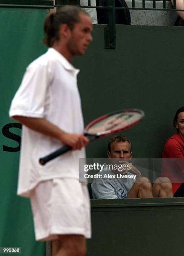
[[[66,133],[44,118],[31,118],[19,115],[14,115],[12,118],[38,133],[58,139],[64,145],[71,146],[73,150],[81,149],[89,142],[86,136],[82,134]]]

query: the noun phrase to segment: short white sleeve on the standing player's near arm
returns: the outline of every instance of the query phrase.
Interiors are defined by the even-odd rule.
[[[46,65],[28,67],[10,106],[9,115],[43,118],[49,72]]]

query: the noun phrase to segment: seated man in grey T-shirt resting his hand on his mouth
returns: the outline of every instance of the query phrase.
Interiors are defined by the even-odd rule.
[[[107,156],[113,164],[116,161],[119,165],[128,165],[128,160],[132,158],[131,148],[131,142],[127,137],[114,136],[108,143]],[[119,172],[112,168],[99,173],[102,178],[94,179],[92,182],[94,199],[173,197],[172,184],[168,178],[157,178],[151,187],[149,179],[142,177],[141,172],[132,164],[129,171]],[[109,177],[108,174],[111,178],[106,178]],[[114,174],[131,175],[132,179],[116,178],[117,175]]]

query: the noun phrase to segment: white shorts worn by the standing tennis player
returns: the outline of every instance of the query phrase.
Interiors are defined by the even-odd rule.
[[[62,178],[39,183],[31,193],[36,240],[58,239],[58,235],[91,238],[89,194],[86,184]]]

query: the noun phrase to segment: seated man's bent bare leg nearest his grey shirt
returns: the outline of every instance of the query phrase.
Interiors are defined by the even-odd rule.
[[[152,198],[151,183],[148,178],[141,177],[133,184],[127,198]]]

